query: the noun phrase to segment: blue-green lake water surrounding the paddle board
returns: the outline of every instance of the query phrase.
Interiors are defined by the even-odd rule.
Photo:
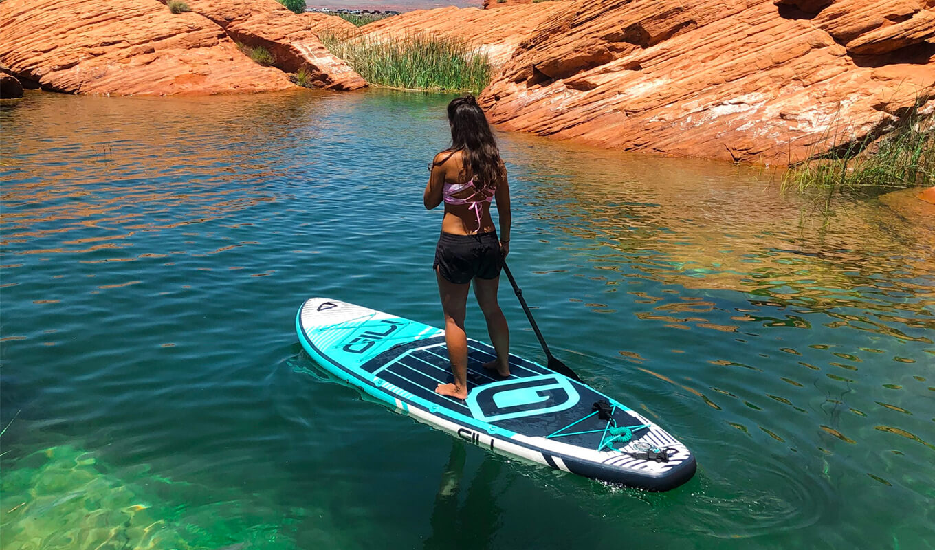
[[[539,325],[693,449],[677,490],[324,380],[307,297],[440,324],[421,194],[448,99],[0,106],[4,550],[935,545],[935,230],[875,200],[802,218],[757,168],[500,137]]]

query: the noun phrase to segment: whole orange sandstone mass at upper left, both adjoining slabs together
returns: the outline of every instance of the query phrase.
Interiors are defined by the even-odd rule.
[[[325,50],[311,22],[275,0],[187,0],[172,14],[157,0],[5,0],[0,62],[21,80],[75,94],[227,94],[295,88],[305,69],[322,88],[367,85]],[[263,46],[276,68],[235,42]],[[285,72],[283,72],[285,71]]]

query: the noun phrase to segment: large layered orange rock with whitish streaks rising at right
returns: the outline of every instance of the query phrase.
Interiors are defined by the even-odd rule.
[[[885,132],[935,95],[935,27],[919,0],[531,7],[557,11],[482,94],[491,119],[510,130],[784,164],[827,151],[841,136]],[[521,8],[490,13],[514,21]]]

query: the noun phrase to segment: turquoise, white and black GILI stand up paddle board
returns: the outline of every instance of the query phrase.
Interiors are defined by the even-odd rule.
[[[664,429],[586,384],[510,355],[510,377],[482,364],[494,348],[468,339],[468,398],[452,381],[445,332],[354,304],[313,297],[295,318],[302,347],[339,379],[420,422],[483,449],[613,484],[667,491],[695,457]]]

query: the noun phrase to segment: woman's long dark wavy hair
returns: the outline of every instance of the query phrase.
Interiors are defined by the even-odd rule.
[[[470,166],[474,185],[496,186],[502,177],[503,161],[490,124],[473,95],[458,97],[448,104],[448,123],[452,126],[452,149],[464,155],[464,165]]]

